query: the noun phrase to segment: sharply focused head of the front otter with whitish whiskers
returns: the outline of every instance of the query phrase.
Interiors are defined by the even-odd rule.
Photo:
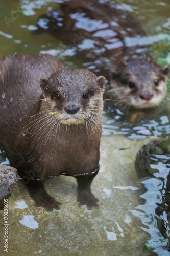
[[[98,123],[103,110],[105,77],[85,69],[63,69],[40,79],[41,112],[62,124]]]

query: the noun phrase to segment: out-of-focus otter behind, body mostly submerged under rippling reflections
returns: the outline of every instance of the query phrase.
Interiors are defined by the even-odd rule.
[[[37,24],[34,33],[62,39],[85,61],[84,66],[107,78],[105,95],[114,102],[142,109],[163,100],[169,68],[152,59],[147,45],[137,45],[146,34],[126,11],[110,2],[68,0],[42,15]]]

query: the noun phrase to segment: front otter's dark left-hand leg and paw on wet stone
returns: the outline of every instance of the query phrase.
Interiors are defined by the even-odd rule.
[[[35,201],[36,207],[44,207],[46,210],[59,210],[61,205],[60,202],[57,202],[56,199],[48,195],[47,191],[44,188],[44,185],[41,181],[30,180],[27,184],[30,196]]]

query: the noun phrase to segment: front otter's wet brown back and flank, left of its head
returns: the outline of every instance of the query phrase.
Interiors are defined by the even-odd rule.
[[[63,68],[64,65],[59,60],[47,54],[15,54],[1,59],[0,144],[5,141],[8,147],[10,140],[10,144],[15,145],[16,136],[41,95],[40,78],[48,78]]]

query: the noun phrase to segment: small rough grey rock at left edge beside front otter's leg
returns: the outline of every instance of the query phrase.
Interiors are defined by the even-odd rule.
[[[0,209],[4,208],[4,199],[8,198],[17,186],[19,175],[15,168],[0,164]]]

